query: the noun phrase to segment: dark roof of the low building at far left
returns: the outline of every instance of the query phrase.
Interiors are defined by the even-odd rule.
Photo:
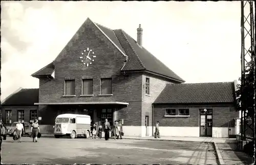
[[[38,103],[39,89],[21,89],[5,100],[1,106],[31,105]]]

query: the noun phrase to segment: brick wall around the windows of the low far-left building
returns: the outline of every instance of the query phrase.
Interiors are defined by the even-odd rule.
[[[12,111],[12,122],[18,121],[18,110],[24,110],[24,121],[30,121],[30,110],[38,110],[38,106],[2,106],[2,120],[6,123],[6,110]]]

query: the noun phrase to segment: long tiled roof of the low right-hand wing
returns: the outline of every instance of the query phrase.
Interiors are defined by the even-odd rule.
[[[167,84],[154,104],[234,103],[234,83]]]

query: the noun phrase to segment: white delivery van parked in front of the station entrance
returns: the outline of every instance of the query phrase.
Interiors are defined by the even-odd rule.
[[[71,138],[77,136],[90,136],[91,117],[83,114],[60,114],[55,119],[54,136],[59,138],[69,135]]]

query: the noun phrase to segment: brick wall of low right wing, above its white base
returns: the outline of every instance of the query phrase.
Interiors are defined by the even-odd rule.
[[[190,117],[164,117],[167,108],[189,108]],[[159,121],[163,127],[199,127],[199,109],[204,108],[212,109],[212,127],[228,127],[229,120],[239,117],[232,105],[154,105],[154,124]]]

